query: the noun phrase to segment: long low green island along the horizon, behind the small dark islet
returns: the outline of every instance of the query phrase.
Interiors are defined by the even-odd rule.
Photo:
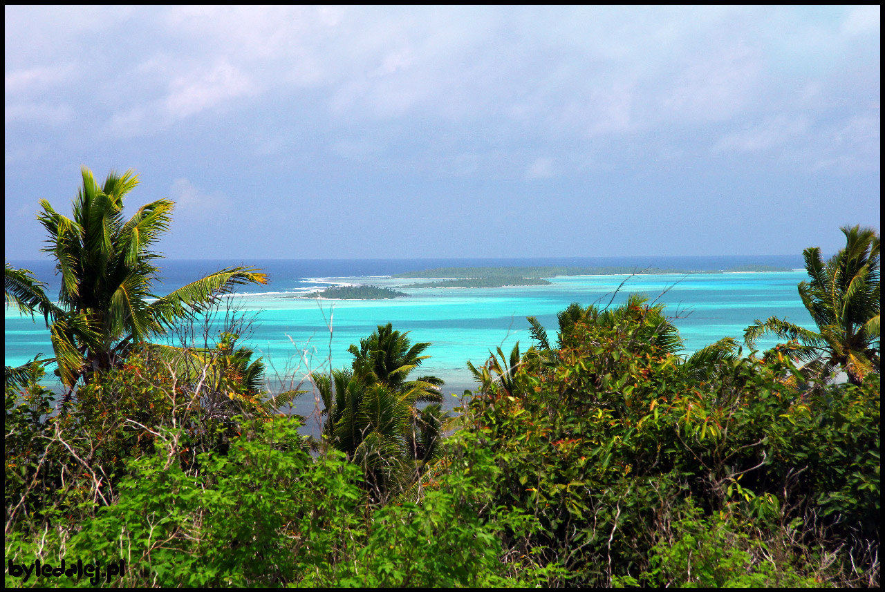
[[[698,273],[739,273],[792,271],[790,268],[773,265],[740,265],[728,269],[660,269],[650,267],[440,267],[407,271],[396,274],[400,279],[439,279],[426,284],[412,284],[413,288],[496,288],[506,285],[549,285],[544,277],[557,276],[626,276],[655,274],[698,274]]]

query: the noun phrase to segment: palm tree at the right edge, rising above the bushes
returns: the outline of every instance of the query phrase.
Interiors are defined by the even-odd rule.
[[[750,347],[767,333],[788,339],[789,350],[806,362],[805,376],[827,382],[842,368],[850,383],[860,384],[867,374],[878,374],[881,365],[879,235],[859,225],[841,230],[845,248],[826,263],[819,247],[803,252],[811,281],[799,284],[799,297],[818,330],[772,316],[757,319],[743,337]]]

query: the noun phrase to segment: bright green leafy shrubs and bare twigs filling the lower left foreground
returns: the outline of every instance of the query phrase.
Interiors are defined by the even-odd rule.
[[[55,417],[47,391],[7,391],[8,560],[122,558],[127,575],[111,583],[123,586],[512,586],[543,577],[503,564],[501,521],[476,511],[495,470],[488,454],[472,474],[436,475],[420,503],[380,506],[357,463],[334,446],[308,452],[296,418],[215,419],[161,376],[130,359]],[[78,582],[6,574],[7,586],[22,583]]]

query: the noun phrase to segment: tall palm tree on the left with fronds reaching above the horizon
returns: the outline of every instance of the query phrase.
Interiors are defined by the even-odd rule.
[[[4,274],[7,303],[40,312],[50,329],[50,361],[69,389],[65,400],[79,380],[89,382],[119,363],[133,344],[164,333],[237,285],[267,282],[258,269],[230,267],[157,298],[150,290],[158,280],[152,262],[160,255],[149,249],[168,229],[173,202],[151,201],[126,220],[123,198],[138,184],[133,171],[112,172],[102,186],[86,167],[81,176],[73,217],[58,214],[46,200],[37,216],[49,233],[42,250],[55,257],[61,274],[58,304],[27,269],[7,264]]]

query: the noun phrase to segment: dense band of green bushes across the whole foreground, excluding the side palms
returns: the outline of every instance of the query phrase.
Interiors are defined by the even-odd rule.
[[[797,391],[773,351],[698,380],[659,313],[564,311],[555,348],[483,368],[411,480],[378,472],[409,458],[409,422],[376,420],[415,411],[397,393],[429,381],[396,370],[427,344],[385,326],[333,374],[319,456],[295,419],[215,417],[139,358],[55,417],[47,392],[8,390],[7,558],[126,558],[117,583],[162,586],[877,583],[879,376]],[[358,407],[391,403],[363,443],[396,447],[360,456],[335,429],[353,376]]]

